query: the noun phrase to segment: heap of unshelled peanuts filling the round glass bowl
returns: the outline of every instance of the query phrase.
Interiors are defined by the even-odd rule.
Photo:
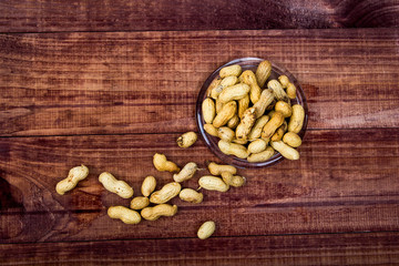
[[[305,110],[290,104],[296,86],[286,75],[269,80],[269,61],[263,61],[254,73],[242,72],[238,64],[225,66],[208,86],[202,103],[204,130],[217,136],[219,150],[250,163],[269,160],[275,151],[288,160],[298,160],[296,147]]]

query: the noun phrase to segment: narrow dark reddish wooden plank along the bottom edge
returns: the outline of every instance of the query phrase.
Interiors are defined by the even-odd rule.
[[[354,233],[0,244],[2,265],[390,265],[399,235]]]

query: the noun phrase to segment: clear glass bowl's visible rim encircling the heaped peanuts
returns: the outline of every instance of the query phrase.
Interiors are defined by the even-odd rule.
[[[244,65],[243,71],[247,70],[247,69],[256,70],[254,68],[256,68],[262,61],[265,61],[265,60],[266,59],[247,57],[247,58],[234,59],[234,60],[218,66],[216,70],[214,70],[207,76],[207,79],[202,84],[201,90],[198,92],[197,101],[196,101],[196,109],[195,109],[196,124],[197,124],[198,132],[200,132],[202,139],[206,143],[206,146],[223,163],[236,166],[238,168],[268,167],[268,166],[276,165],[277,163],[282,162],[285,157],[280,153],[276,152],[269,160],[267,160],[265,162],[250,163],[250,162],[248,162],[246,160],[238,158],[238,157],[236,157],[234,155],[226,155],[226,154],[222,153],[222,151],[217,146],[217,143],[215,144],[214,141],[212,141],[212,139],[216,139],[216,136],[208,135],[204,130],[204,124],[205,123],[204,123],[203,116],[202,116],[202,102],[204,101],[204,99],[206,99],[207,89],[208,89],[211,82],[215,78],[218,76],[218,73],[219,73],[221,69],[223,69],[225,66],[228,66],[228,65],[232,65],[232,64],[239,64],[241,66]],[[307,106],[307,99],[306,99],[305,92],[304,92],[299,81],[287,69],[285,69],[280,64],[276,64],[275,61],[270,61],[270,60],[268,60],[268,61],[272,63],[272,72],[275,72],[277,75],[280,75],[280,74],[287,75],[289,81],[291,83],[294,83],[296,85],[296,88],[297,88],[297,98],[291,100],[291,101],[294,101],[295,103],[299,103],[305,110],[305,119],[304,119],[303,127],[301,127],[300,132],[298,133],[300,139],[304,140],[304,136],[305,136],[305,133],[306,133],[306,130],[307,130],[307,124],[308,124],[308,106]],[[249,63],[256,63],[256,64],[252,65]],[[265,83],[265,85],[266,84],[267,84],[267,82]],[[265,86],[262,88],[262,89],[265,89]]]

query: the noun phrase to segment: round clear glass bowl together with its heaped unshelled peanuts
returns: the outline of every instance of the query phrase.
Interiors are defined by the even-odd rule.
[[[305,93],[286,69],[242,58],[217,68],[196,102],[196,122],[208,149],[241,168],[299,160],[308,121]]]

